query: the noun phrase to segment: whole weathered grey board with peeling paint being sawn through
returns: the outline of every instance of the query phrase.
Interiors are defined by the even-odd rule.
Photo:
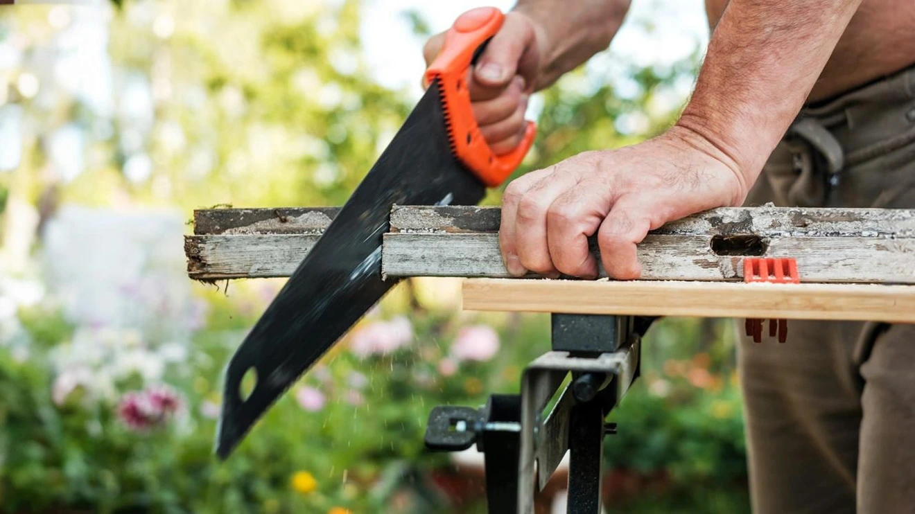
[[[337,210],[199,210],[185,241],[188,274],[288,276]],[[498,208],[395,207],[382,273],[507,277],[499,222]],[[713,209],[653,230],[639,246],[645,280],[736,281],[751,255],[796,258],[804,282],[915,284],[915,210]]]

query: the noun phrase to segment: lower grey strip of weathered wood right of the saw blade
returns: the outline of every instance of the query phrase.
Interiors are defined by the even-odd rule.
[[[498,240],[493,233],[385,234],[382,273],[508,278]],[[638,255],[642,280],[743,279],[743,257],[716,255],[708,236],[651,234]],[[915,284],[915,239],[782,237],[761,255],[794,257],[803,282]]]

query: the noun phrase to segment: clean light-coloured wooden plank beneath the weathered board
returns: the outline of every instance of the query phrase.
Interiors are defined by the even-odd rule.
[[[915,287],[469,279],[464,309],[915,323]]]

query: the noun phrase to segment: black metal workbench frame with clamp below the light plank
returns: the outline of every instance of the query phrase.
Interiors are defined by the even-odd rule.
[[[533,427],[523,423],[523,391],[522,395],[493,394],[490,402],[480,409],[454,406],[433,409],[425,433],[426,446],[436,451],[460,451],[477,444],[478,450],[484,454],[489,511],[530,514],[533,498],[525,498],[527,488],[519,488],[521,480],[533,479],[522,477],[522,470],[525,469],[523,463],[519,464],[524,459],[522,453],[531,451],[523,444],[522,432],[533,431],[535,436],[539,435],[544,440],[565,438],[565,441],[539,442],[540,445],[550,446],[537,450],[536,455],[542,459],[538,460],[539,472],[552,475],[554,465],[558,464],[556,457],[561,457],[555,454],[565,454],[567,448],[570,459],[567,511],[569,514],[599,514],[604,437],[616,433],[616,425],[605,424],[604,419],[639,375],[638,338],[645,333],[651,321],[652,318],[634,316],[553,314],[551,332],[554,351],[535,360],[529,369],[553,372],[553,375],[538,376],[544,380],[543,383],[536,382],[552,387],[551,393],[558,391],[556,376],[561,377],[571,371],[573,380],[567,390],[562,391],[563,397],[549,419],[542,423],[538,414]],[[619,366],[604,364],[614,360],[605,358],[632,358],[630,353],[633,352],[635,356],[631,361],[635,363],[635,369],[629,370],[628,377],[619,376]],[[547,368],[543,368],[543,364],[534,368],[544,358],[555,362]],[[568,361],[567,368],[563,367],[564,359]],[[593,359],[594,365],[586,366],[587,370],[582,371],[583,359],[586,363],[591,362],[588,359]],[[525,380],[528,379],[526,371]],[[566,395],[566,392],[569,394]],[[540,485],[545,483],[544,478],[548,477],[538,477]]]

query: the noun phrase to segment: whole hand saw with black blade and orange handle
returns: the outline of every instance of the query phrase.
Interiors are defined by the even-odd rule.
[[[473,118],[468,69],[504,16],[494,7],[458,17],[425,71],[425,95],[346,205],[298,265],[232,356],[216,452],[229,455],[253,423],[394,284],[382,280],[382,234],[400,205],[474,205],[501,184],[533,144],[495,155]],[[242,378],[256,377],[242,393]]]

